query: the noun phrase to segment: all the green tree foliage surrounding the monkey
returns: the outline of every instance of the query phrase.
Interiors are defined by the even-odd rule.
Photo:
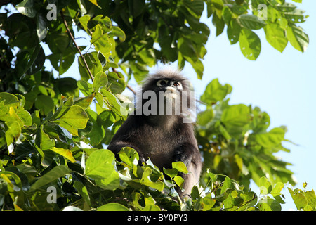
[[[205,107],[195,126],[204,168],[191,198],[175,191],[183,183],[178,172],[186,172],[180,162],[162,172],[150,160],[138,165],[131,148],[119,159],[105,148],[126,120],[122,92],[131,89],[131,76],[140,83],[147,66],[177,60],[202,78],[210,34],[200,21],[204,10],[216,35],[227,26],[230,44],[239,42],[244,56],[256,60],[258,29],[278,51],[288,41],[305,51],[308,35],[297,24],[307,16],[294,4],[13,0],[1,9],[1,210],[281,210],[284,183],[295,184],[290,164],[274,155],[289,152],[282,146],[287,128],[270,129],[258,107],[230,105],[232,86],[218,79],[200,98]],[[90,37],[84,46],[77,45],[80,32]],[[60,77],[74,60],[81,79]],[[249,190],[251,179],[261,193]],[[315,210],[314,191],[289,192],[298,210]]]

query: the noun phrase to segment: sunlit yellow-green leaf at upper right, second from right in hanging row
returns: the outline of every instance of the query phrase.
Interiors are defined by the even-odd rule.
[[[287,37],[284,30],[277,23],[268,23],[265,26],[265,38],[271,46],[280,52],[283,52],[287,46]]]

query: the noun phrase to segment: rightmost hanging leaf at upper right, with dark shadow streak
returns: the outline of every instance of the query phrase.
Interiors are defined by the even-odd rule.
[[[305,34],[301,27],[296,27],[296,25],[289,24],[289,26],[287,26],[287,38],[295,49],[301,52],[306,51],[309,38],[308,34]]]

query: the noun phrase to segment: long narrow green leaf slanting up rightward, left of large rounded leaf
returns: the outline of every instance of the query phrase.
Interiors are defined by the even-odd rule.
[[[35,191],[35,190],[41,188],[41,186],[49,184],[49,183],[55,181],[56,179],[58,179],[62,176],[65,176],[66,174],[70,174],[71,172],[72,172],[72,170],[69,169],[68,167],[66,167],[65,165],[55,166],[55,167],[53,167],[53,169],[51,169],[46,174],[41,176],[40,179],[35,181],[35,183],[31,186],[29,191]]]

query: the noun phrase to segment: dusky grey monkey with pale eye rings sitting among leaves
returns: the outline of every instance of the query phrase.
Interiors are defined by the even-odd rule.
[[[159,70],[148,75],[140,92],[145,101],[136,99],[133,113],[107,147],[116,155],[121,148],[131,147],[138,152],[140,165],[150,158],[160,171],[171,168],[172,162],[183,162],[189,173],[179,173],[184,179],[184,191],[176,188],[180,198],[191,194],[202,170],[194,127],[192,122],[185,122],[190,111],[195,110],[189,84],[178,70]]]

